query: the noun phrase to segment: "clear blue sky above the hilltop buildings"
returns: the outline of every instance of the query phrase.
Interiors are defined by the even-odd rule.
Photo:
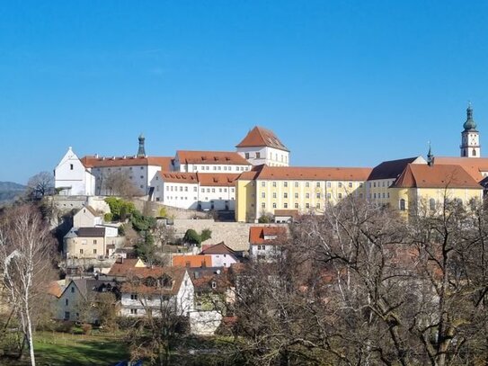
[[[292,165],[488,156],[486,1],[9,1],[0,181],[78,156],[234,150],[273,129]],[[485,152],[485,153],[484,153]]]

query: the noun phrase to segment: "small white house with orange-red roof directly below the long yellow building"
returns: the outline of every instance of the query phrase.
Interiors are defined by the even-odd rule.
[[[286,227],[249,228],[249,257],[253,261],[274,262],[282,254]]]

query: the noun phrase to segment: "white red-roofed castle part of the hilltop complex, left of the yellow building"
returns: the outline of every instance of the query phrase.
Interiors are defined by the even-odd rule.
[[[122,174],[142,195],[168,206],[234,210],[235,179],[253,165],[288,166],[289,151],[270,129],[254,127],[237,151],[178,150],[175,156],[147,156],[144,136],[135,156],[84,156],[69,147],[54,170],[62,195],[109,195],[112,174]]]

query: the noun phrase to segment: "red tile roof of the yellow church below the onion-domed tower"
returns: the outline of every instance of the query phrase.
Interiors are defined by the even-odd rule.
[[[394,188],[470,188],[482,189],[459,165],[409,164],[393,184]]]

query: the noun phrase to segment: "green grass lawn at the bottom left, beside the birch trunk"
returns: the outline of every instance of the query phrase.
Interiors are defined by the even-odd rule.
[[[37,332],[34,335],[36,364],[42,365],[111,365],[127,360],[127,347],[120,339],[105,335],[69,335]],[[28,365],[29,357],[9,365]]]

